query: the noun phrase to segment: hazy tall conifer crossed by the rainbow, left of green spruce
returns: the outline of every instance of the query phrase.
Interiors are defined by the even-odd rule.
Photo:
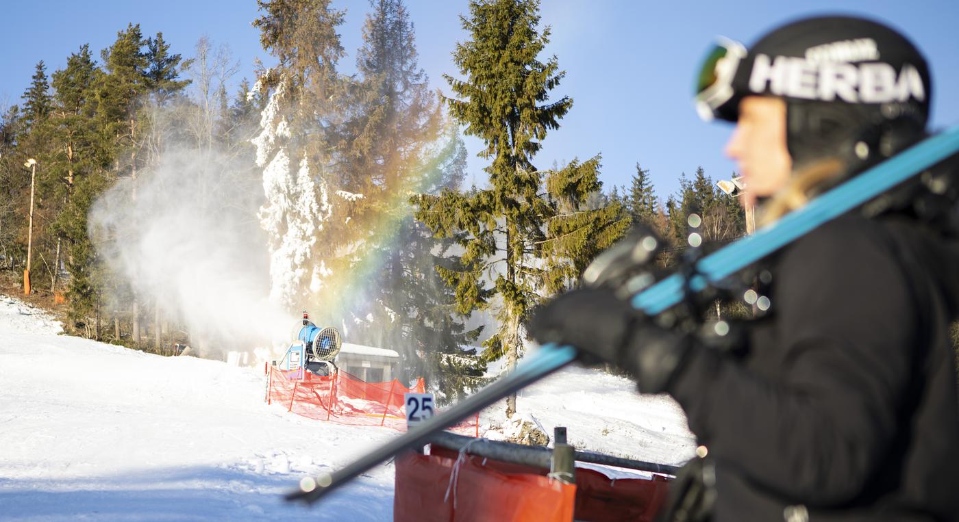
[[[403,2],[371,4],[357,53],[362,77],[353,88],[354,116],[347,123],[344,137],[349,141],[340,163],[343,179],[354,192],[363,193],[352,208],[358,230],[372,232],[363,242],[359,266],[351,270],[371,273],[359,278],[362,284],[343,290],[353,296],[354,314],[363,317],[368,312],[372,317],[370,328],[360,333],[365,342],[385,344],[401,353],[409,369],[433,374],[435,369],[424,367],[419,353],[458,351],[471,339],[461,334],[453,315],[439,319],[434,311],[449,308],[451,299],[437,284],[432,252],[445,252],[451,245],[423,236],[422,225],[412,218],[408,194],[433,193],[440,185],[461,182],[464,148],[460,140],[447,138],[445,148],[434,151],[440,141],[440,107],[417,65],[415,35]],[[424,261],[429,264],[426,271]],[[361,309],[362,303],[366,306]],[[456,395],[441,386],[444,394]]]

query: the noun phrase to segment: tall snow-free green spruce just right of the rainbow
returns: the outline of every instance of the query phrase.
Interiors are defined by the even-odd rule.
[[[537,32],[538,8],[534,0],[470,2],[470,17],[462,22],[471,39],[457,44],[453,55],[466,79],[445,76],[457,97],[446,101],[464,132],[482,140],[479,155],[492,159],[485,169],[490,189],[418,200],[417,218],[464,249],[463,270],[437,267],[456,288],[456,311],[487,308],[494,296],[500,298],[494,310],[498,329],[484,341],[483,355],[505,355],[509,368],[520,356],[522,324],[540,300],[546,275],[536,255],[547,239],[544,224],[554,215],[532,158],[573,105],[569,98],[549,102],[564,73],[555,57],[538,59],[550,34],[549,28]],[[494,280],[491,288],[487,276]],[[515,411],[516,397],[507,397],[506,415]]]

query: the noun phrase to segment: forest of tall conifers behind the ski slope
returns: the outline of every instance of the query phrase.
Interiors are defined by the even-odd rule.
[[[73,334],[215,353],[253,340],[198,318],[243,301],[231,292],[252,279],[272,309],[309,308],[351,342],[396,350],[452,398],[487,363],[515,364],[530,311],[631,228],[667,240],[664,267],[689,246],[690,214],[708,243],[745,234],[737,199],[701,168],[664,196],[643,158],[626,186],[603,184],[598,151],[537,162],[575,108],[535,0],[470,3],[445,95],[418,64],[403,0],[370,2],[353,74],[335,2],[258,5],[275,65],[254,79],[236,78],[225,45],[201,38],[182,56],[136,23],[103,50],[78,42],[62,69],[36,63],[0,107],[7,291],[29,270]],[[466,171],[464,135],[483,144],[481,173]]]

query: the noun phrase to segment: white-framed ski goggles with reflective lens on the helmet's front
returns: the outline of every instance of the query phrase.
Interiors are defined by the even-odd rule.
[[[696,112],[700,118],[707,122],[721,118],[718,110],[736,94],[733,79],[746,54],[744,45],[722,36],[706,54],[696,79]]]

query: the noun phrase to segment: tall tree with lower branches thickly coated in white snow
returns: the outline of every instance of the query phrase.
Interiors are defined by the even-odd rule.
[[[257,5],[262,14],[253,25],[278,60],[257,79],[269,102],[253,139],[267,194],[260,220],[269,238],[270,298],[290,310],[330,309],[327,280],[340,270],[334,261],[348,250],[343,238],[349,237],[346,205],[334,200],[343,189],[329,169],[344,94],[337,73],[343,11],[331,9],[329,0]]]

